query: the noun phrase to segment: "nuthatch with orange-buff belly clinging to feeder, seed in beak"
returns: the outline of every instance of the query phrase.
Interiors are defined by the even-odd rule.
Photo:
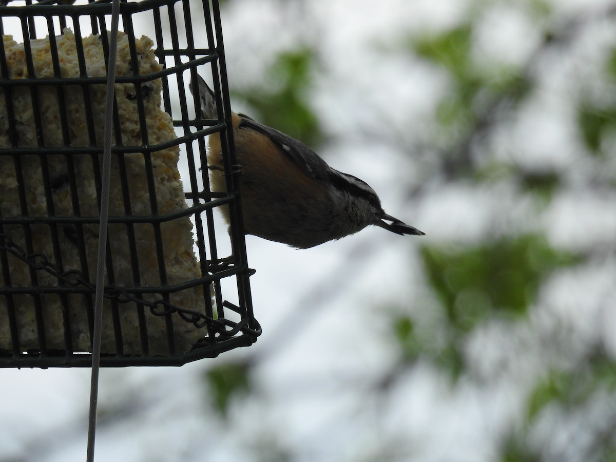
[[[200,76],[199,98],[201,117],[217,119],[214,93]],[[298,140],[243,114],[232,113],[232,121],[246,234],[302,249],[368,225],[400,235],[424,234],[387,215],[368,184],[334,170]],[[219,134],[210,135],[208,144],[211,188],[224,192]],[[228,223],[229,211],[222,212]]]

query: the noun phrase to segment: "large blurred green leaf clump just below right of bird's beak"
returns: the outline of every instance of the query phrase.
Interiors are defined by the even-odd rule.
[[[535,234],[462,248],[424,246],[421,255],[448,320],[461,331],[495,312],[526,314],[543,278],[579,261]]]

